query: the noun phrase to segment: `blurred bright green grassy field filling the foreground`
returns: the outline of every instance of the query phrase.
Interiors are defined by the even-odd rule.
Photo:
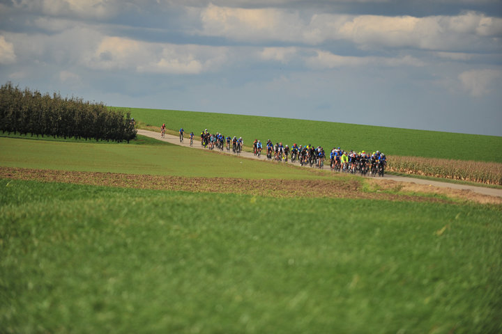
[[[496,207],[0,180],[3,333],[500,333]]]

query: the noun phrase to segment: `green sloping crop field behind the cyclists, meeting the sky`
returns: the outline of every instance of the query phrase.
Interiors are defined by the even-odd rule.
[[[344,150],[380,150],[387,155],[502,162],[502,137],[455,134],[336,122],[241,116],[159,109],[128,109],[144,125],[181,127],[199,135],[204,129],[242,136],[245,145],[255,138],[289,145],[340,146]],[[496,153],[494,153],[496,152]]]

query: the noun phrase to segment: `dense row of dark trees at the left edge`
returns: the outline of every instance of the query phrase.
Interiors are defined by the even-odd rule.
[[[129,112],[109,110],[105,104],[76,97],[20,90],[10,82],[0,88],[0,130],[128,143],[137,133]]]

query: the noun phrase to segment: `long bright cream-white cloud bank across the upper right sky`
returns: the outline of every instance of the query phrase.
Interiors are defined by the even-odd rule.
[[[318,45],[349,40],[362,49],[413,47],[462,51],[480,43],[500,44],[502,18],[476,12],[457,16],[390,17],[382,15],[314,14],[278,8],[229,8],[210,4],[201,9],[201,35],[252,42],[298,42]]]

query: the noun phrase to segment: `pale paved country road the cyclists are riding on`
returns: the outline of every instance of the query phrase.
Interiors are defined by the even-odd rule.
[[[183,140],[183,143],[180,143],[179,136],[172,136],[172,135],[166,134],[165,138],[160,138],[160,134],[158,132],[153,132],[153,131],[143,130],[143,129],[138,129],[138,134],[141,134],[142,136],[155,138],[160,141],[167,141],[168,143],[173,143],[176,145],[190,147],[190,139],[187,139],[187,138],[185,138]],[[204,150],[204,148],[202,148],[200,145],[200,141],[194,141],[192,148],[195,148],[198,150]],[[220,151],[220,152],[222,152],[222,151]],[[223,150],[223,152],[227,153],[227,150]],[[232,152],[229,152],[229,154],[234,155],[234,153],[232,153]],[[254,154],[252,154],[250,152],[242,152],[241,157],[258,159]],[[388,175],[388,174],[386,174],[384,176],[384,178],[387,180],[394,180],[397,182],[412,182],[412,183],[416,183],[416,184],[425,184],[425,185],[430,184],[432,186],[440,186],[440,187],[444,187],[444,188],[459,189],[459,190],[469,190],[469,191],[473,191],[475,193],[482,193],[483,195],[502,197],[502,189],[493,189],[493,188],[485,188],[483,186],[469,186],[466,184],[455,184],[455,183],[448,183],[448,182],[423,180],[423,179],[417,179],[415,177],[404,177],[404,176],[396,176],[396,175]]]

